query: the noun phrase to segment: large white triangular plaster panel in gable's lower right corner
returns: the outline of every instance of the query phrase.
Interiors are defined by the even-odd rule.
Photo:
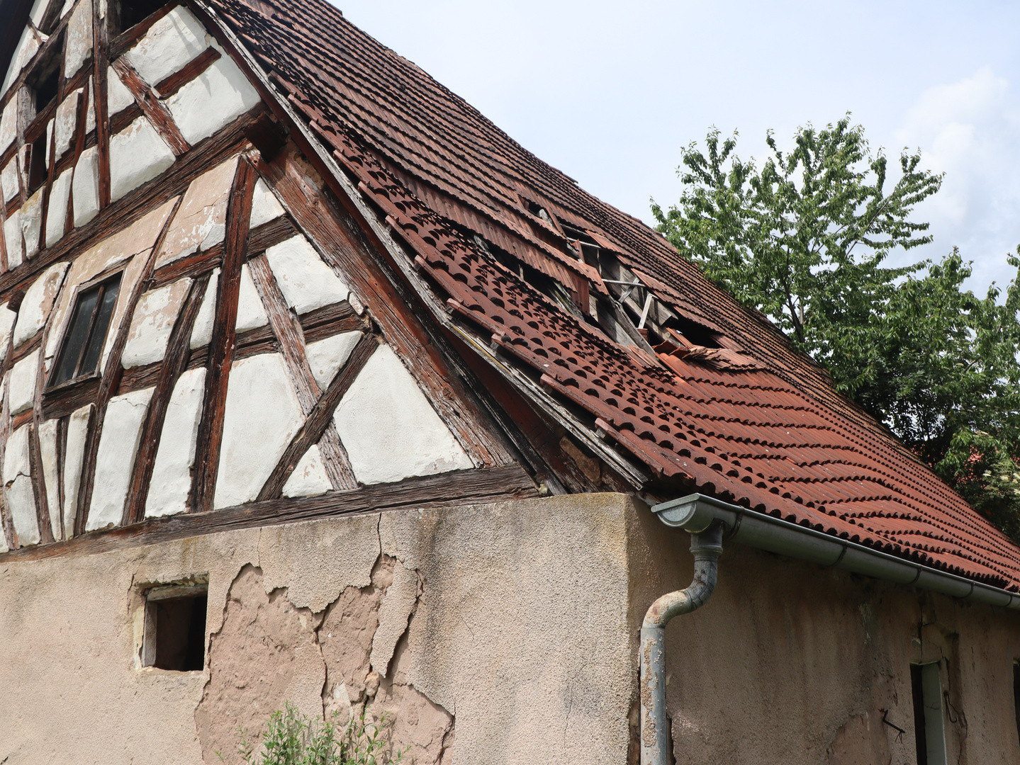
[[[354,475],[364,484],[474,467],[388,345],[368,360],[334,420]]]

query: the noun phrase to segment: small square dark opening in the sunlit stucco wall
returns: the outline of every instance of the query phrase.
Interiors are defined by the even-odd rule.
[[[142,665],[176,672],[205,668],[206,585],[155,587],[146,594]]]

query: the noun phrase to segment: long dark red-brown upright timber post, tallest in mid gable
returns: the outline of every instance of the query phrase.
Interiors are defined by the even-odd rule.
[[[241,289],[241,266],[248,252],[252,198],[258,174],[246,158],[238,162],[226,209],[226,235],[223,265],[216,285],[216,320],[209,342],[205,373],[205,396],[202,423],[195,444],[195,470],[192,471],[191,511],[211,510],[219,472],[219,449],[226,411],[226,387],[234,363],[237,339],[238,295]]]

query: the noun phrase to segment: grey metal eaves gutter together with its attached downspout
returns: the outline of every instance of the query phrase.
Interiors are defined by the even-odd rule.
[[[666,624],[673,616],[690,613],[711,597],[715,589],[717,560],[722,552],[722,539],[826,567],[920,587],[960,600],[1020,610],[1020,593],[939,571],[702,494],[688,494],[654,505],[652,509],[666,526],[691,533],[695,579],[686,590],[668,593],[656,600],[642,624],[641,765],[667,765],[669,762]]]

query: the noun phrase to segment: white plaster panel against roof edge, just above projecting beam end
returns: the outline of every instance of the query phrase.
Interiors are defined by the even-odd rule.
[[[230,56],[223,56],[166,99],[166,106],[185,141],[194,146],[258,102],[248,78]]]

